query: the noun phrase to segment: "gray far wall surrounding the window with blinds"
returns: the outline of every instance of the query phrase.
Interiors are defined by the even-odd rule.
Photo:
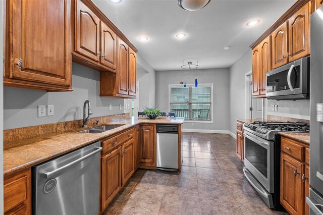
[[[206,69],[156,72],[156,106],[168,112],[169,84],[186,81],[194,84],[197,77],[200,84],[213,84],[213,123],[184,123],[184,129],[218,130],[229,129],[229,69]]]

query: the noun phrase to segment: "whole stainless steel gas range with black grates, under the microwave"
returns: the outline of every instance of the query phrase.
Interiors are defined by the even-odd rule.
[[[270,208],[280,204],[280,135],[278,132],[309,133],[302,122],[261,122],[243,124],[245,132],[244,175]]]

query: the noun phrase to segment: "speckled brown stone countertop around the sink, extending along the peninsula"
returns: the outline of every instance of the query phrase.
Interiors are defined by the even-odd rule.
[[[142,123],[183,124],[184,118],[149,120],[148,118],[127,117],[113,119],[109,123],[101,124],[117,124],[122,126],[99,134],[76,133],[77,131],[84,130],[84,128],[79,128],[66,133],[4,142],[4,177]]]

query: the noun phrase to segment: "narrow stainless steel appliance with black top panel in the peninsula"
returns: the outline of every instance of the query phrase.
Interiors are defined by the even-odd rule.
[[[178,125],[157,124],[157,169],[178,170]]]

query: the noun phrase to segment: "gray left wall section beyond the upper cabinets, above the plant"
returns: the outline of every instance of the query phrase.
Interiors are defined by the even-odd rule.
[[[139,65],[139,68],[138,68]],[[156,71],[137,54],[137,80],[139,81],[139,111],[156,106]]]

